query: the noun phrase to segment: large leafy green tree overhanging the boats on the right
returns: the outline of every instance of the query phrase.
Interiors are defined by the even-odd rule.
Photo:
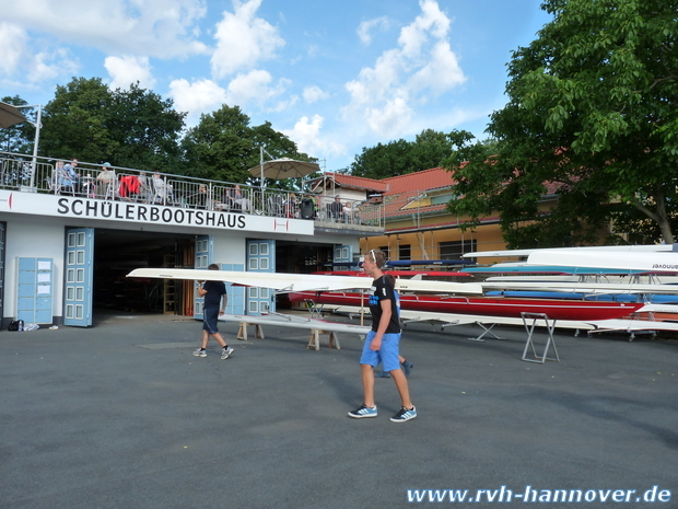
[[[545,0],[553,15],[513,54],[487,158],[465,132],[445,165],[453,212],[490,211],[512,247],[587,242],[617,218],[674,242],[678,200],[678,0]],[[468,161],[463,164],[464,161]],[[543,213],[540,199],[558,204]],[[633,215],[633,211],[642,216]],[[536,222],[535,222],[536,221]]]

